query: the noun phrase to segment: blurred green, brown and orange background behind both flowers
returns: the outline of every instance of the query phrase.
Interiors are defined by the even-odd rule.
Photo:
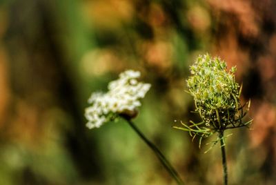
[[[0,184],[175,184],[123,120],[89,130],[87,99],[126,69],[152,88],[135,124],[186,184],[221,184],[219,146],[171,128],[190,113],[188,66],[237,66],[252,130],[226,139],[230,184],[276,184],[276,3],[0,1]],[[245,121],[246,121],[245,119]],[[175,122],[174,120],[177,120]]]

